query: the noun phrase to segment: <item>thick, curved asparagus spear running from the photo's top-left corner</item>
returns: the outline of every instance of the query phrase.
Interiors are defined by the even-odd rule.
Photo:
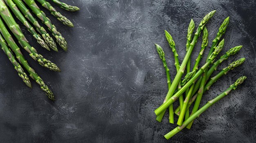
[[[9,27],[9,29],[18,39],[22,47],[29,53],[29,55],[34,60],[38,61],[38,63],[45,68],[49,68],[50,70],[53,70],[53,71],[58,71],[58,72],[60,71],[60,69],[56,66],[56,64],[45,59],[42,55],[39,55],[36,49],[29,45],[29,42],[27,41],[22,31],[20,30],[20,26],[15,22],[10,11],[8,10],[8,8],[6,7],[5,3],[2,0],[0,0],[0,15],[5,21],[5,23],[7,24],[7,26]],[[6,29],[3,22],[1,22],[0,26]]]

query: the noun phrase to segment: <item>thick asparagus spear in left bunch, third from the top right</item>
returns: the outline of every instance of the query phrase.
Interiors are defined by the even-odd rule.
[[[57,43],[63,48],[64,51],[67,51],[67,42],[62,37],[61,33],[59,33],[56,29],[56,27],[52,24],[51,20],[45,16],[45,13],[40,10],[40,8],[36,5],[36,2],[34,0],[24,0],[25,3],[29,6],[29,8],[33,11],[33,13],[36,14],[36,16],[42,20],[42,22],[48,27],[50,31],[52,31],[52,35],[57,40]]]

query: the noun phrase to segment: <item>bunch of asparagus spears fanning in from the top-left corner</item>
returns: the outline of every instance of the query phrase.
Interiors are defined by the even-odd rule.
[[[45,7],[54,17],[56,17],[63,24],[74,27],[72,22],[68,20],[65,16],[61,15],[52,5],[46,0],[36,0],[43,7]],[[67,5],[59,0],[52,0],[59,7],[67,11],[79,11],[78,7]],[[27,8],[29,7],[29,8]],[[46,92],[46,95],[49,99],[55,100],[52,91],[45,85],[43,79],[31,68],[20,51],[19,46],[13,40],[11,33],[16,37],[20,46],[29,53],[29,55],[36,60],[41,66],[49,68],[52,71],[60,72],[61,70],[56,66],[56,64],[45,59],[42,55],[38,54],[36,49],[32,47],[20,26],[16,23],[16,20],[13,18],[11,12],[15,17],[20,20],[22,24],[25,25],[27,30],[33,35],[38,44],[43,48],[50,51],[50,49],[58,52],[58,48],[53,40],[53,38],[47,33],[43,26],[39,24],[34,15],[30,13],[30,10],[47,26],[48,30],[56,38],[56,42],[63,48],[64,51],[67,51],[67,42],[59,33],[56,27],[52,24],[51,20],[47,18],[45,13],[40,10],[34,0],[0,0],[0,46],[2,50],[7,55],[14,68],[17,70],[18,75],[22,78],[24,83],[32,88],[29,77],[23,70],[22,66],[27,70],[29,76],[36,81],[43,91]],[[34,27],[33,27],[34,26]],[[36,30],[35,30],[35,29]],[[11,33],[9,32],[11,31]],[[38,31],[38,33],[36,32]],[[16,57],[16,58],[15,58]],[[21,65],[20,65],[21,64]]]

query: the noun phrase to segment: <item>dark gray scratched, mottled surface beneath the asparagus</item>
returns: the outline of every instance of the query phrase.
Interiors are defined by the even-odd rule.
[[[72,13],[57,7],[74,23],[74,28],[64,26],[42,9],[66,38],[67,52],[60,48],[58,53],[42,49],[21,26],[31,45],[62,70],[54,73],[41,67],[22,49],[29,64],[54,92],[56,101],[50,101],[32,80],[33,89],[26,87],[7,56],[0,52],[0,142],[255,142],[254,0],[63,2],[81,8]],[[218,71],[235,59],[246,57],[247,60],[217,81],[202,103],[216,97],[238,77],[246,75],[248,79],[196,119],[191,130],[183,130],[167,141],[163,135],[176,125],[168,123],[167,114],[162,123],[155,120],[153,111],[166,96],[167,84],[154,43],[163,47],[173,79],[174,59],[164,29],[173,36],[182,62],[191,18],[198,26],[213,9],[217,12],[207,24],[209,45],[227,16],[230,23],[221,54],[243,45],[240,53],[223,62]],[[201,38],[195,46],[193,62],[200,45]]]

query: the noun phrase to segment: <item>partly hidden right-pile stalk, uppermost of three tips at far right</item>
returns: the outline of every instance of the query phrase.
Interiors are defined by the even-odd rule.
[[[220,57],[220,59],[218,59],[218,61],[214,62],[213,65],[211,66],[211,68],[208,70],[207,72],[207,78],[206,80],[209,79],[209,77],[212,75],[213,71],[217,69],[217,67],[224,61],[224,60],[227,60],[229,56],[231,55],[235,55],[236,53],[238,53],[240,51],[240,49],[242,48],[243,46],[235,46],[234,48],[231,48],[229,49],[229,51],[227,51],[225,53],[225,55],[222,55]],[[202,78],[199,79],[196,84],[195,84],[195,87],[193,89],[193,92],[192,92],[192,95],[195,95],[195,92],[198,91],[198,88],[200,87],[200,82],[201,82]],[[195,96],[192,97],[192,100]],[[195,99],[194,99],[195,100]],[[191,100],[189,101],[189,106],[191,104]],[[187,109],[188,110],[188,109]],[[175,114],[177,114],[178,116],[180,116],[180,106],[177,107],[177,109],[175,110]]]

